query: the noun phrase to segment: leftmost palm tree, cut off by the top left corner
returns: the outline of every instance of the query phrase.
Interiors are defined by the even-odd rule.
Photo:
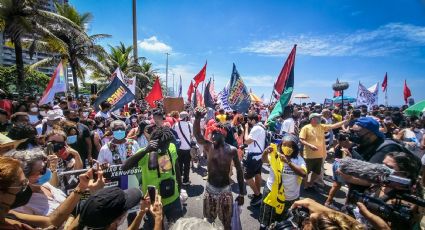
[[[0,0],[0,30],[15,47],[18,92],[22,91],[25,78],[22,55],[24,38],[35,41],[43,37],[60,44],[59,39],[46,25],[54,22],[58,28],[77,29],[75,24],[66,18],[38,9],[40,5],[39,0]]]

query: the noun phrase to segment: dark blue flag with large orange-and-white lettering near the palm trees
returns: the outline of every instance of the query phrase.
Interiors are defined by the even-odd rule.
[[[134,94],[125,86],[125,84],[115,77],[105,90],[94,101],[94,108],[99,111],[99,105],[103,101],[111,104],[111,111],[124,107],[125,104],[134,100]]]

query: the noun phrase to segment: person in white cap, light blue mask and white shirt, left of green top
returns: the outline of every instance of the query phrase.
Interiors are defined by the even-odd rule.
[[[126,125],[124,121],[115,120],[110,124],[113,138],[102,146],[97,161],[100,164],[122,164],[127,158],[136,154],[139,144],[133,139],[125,138]]]

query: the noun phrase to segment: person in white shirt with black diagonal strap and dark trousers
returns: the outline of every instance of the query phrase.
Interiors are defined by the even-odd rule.
[[[183,185],[189,185],[189,172],[190,172],[190,149],[191,145],[194,145],[193,141],[193,126],[189,122],[189,114],[186,111],[180,113],[180,121],[177,122],[173,129],[176,131],[178,138],[181,141],[181,145],[177,150],[178,162],[183,176]]]

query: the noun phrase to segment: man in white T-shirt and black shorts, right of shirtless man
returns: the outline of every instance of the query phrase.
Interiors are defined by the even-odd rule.
[[[258,114],[250,112],[248,114],[248,122],[245,124],[245,144],[248,145],[246,149],[247,156],[243,160],[244,177],[246,183],[251,187],[254,196],[251,200],[251,205],[258,205],[261,203],[261,168],[262,161],[261,155],[265,149],[266,130],[259,122]],[[251,131],[248,132],[249,126],[252,126]]]

